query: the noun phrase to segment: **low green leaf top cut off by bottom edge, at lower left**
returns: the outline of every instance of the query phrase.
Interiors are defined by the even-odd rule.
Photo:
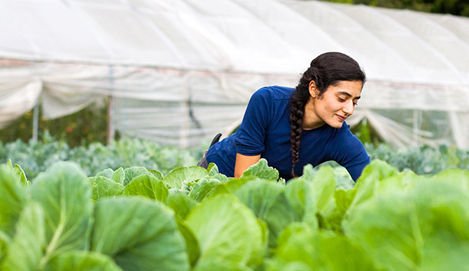
[[[122,271],[107,255],[92,251],[69,251],[49,262],[48,271]]]

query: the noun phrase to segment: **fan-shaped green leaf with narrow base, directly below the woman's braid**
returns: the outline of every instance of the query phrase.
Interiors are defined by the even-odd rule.
[[[235,195],[253,210],[269,228],[269,247],[275,247],[279,234],[295,221],[294,211],[283,193],[285,186],[276,182],[252,181],[241,186]]]

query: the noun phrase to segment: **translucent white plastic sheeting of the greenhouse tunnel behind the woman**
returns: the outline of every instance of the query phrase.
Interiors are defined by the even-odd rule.
[[[194,146],[328,51],[367,73],[349,124],[469,148],[469,18],[321,1],[0,0],[0,126],[112,96],[120,133]]]

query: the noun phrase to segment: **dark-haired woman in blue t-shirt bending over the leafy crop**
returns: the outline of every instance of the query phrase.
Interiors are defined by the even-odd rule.
[[[332,160],[356,181],[370,157],[345,119],[353,114],[365,79],[351,57],[339,52],[319,55],[295,89],[273,86],[256,91],[237,132],[212,145],[200,166],[215,163],[220,173],[241,177],[265,158],[289,180],[301,175],[308,163]]]

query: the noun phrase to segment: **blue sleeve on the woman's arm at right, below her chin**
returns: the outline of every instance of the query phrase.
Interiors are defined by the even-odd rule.
[[[346,133],[345,139],[342,141],[342,145],[337,148],[337,157],[334,160],[346,168],[353,181],[356,182],[363,168],[370,163],[370,156],[368,156],[362,142],[353,136],[349,129],[346,129],[344,133]]]

